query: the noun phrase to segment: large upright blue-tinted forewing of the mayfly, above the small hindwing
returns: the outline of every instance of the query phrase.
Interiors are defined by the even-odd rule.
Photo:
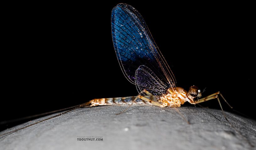
[[[154,78],[157,78],[157,82],[163,87],[175,87],[173,73],[136,9],[127,4],[118,4],[112,10],[111,27],[118,61],[125,77],[131,83],[138,82],[135,73],[143,65],[147,66],[147,72],[154,73]]]

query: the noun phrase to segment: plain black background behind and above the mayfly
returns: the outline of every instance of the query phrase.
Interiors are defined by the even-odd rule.
[[[206,88],[203,97],[221,91],[234,109],[255,119],[255,26],[249,4],[122,2],[144,17],[177,86]],[[118,3],[6,5],[1,121],[94,98],[137,95],[135,85],[122,74],[113,47],[111,10]],[[220,109],[217,100],[202,105]]]

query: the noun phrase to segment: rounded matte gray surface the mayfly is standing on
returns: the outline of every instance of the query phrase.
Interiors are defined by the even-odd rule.
[[[255,149],[248,141],[256,144],[256,122],[232,113],[226,113],[228,120],[246,139],[231,127],[220,110],[193,106],[178,108],[188,118],[189,125],[174,108],[133,106],[115,115],[125,108],[80,108],[0,137],[0,149]],[[102,137],[103,141],[77,141],[78,137],[90,136]]]

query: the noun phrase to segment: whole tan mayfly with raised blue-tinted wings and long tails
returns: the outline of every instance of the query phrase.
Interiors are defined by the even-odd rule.
[[[111,14],[111,29],[116,56],[122,72],[131,83],[136,85],[139,93],[138,96],[93,99],[87,103],[66,108],[65,110],[67,111],[64,113],[57,114],[8,133],[3,133],[0,136],[14,133],[81,107],[125,104],[129,104],[130,106],[155,105],[159,107],[173,107],[179,113],[177,108],[185,102],[198,104],[217,98],[220,104],[218,95],[223,98],[220,92],[211,94],[205,98],[200,98],[201,91],[196,86],[191,86],[188,91],[176,87],[176,79],[170,67],[154,42],[144,19],[135,8],[123,3],[113,8]],[[227,103],[225,99],[224,101]],[[59,111],[63,110],[64,109]],[[184,118],[181,113],[180,115]],[[186,119],[184,118],[184,120]]]

